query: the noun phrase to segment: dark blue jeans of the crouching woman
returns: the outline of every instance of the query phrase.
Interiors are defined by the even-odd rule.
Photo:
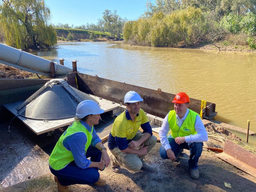
[[[92,145],[89,146],[86,152],[86,157],[90,157],[91,161],[100,162],[101,151]],[[69,163],[61,170],[54,170],[50,166],[50,171],[53,175],[58,177],[58,181],[61,185],[74,185],[74,184],[93,184],[99,180],[100,174],[96,167],[81,169],[75,161]]]

